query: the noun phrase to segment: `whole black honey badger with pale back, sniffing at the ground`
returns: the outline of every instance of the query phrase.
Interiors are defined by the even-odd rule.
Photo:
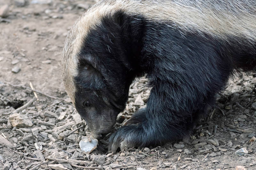
[[[147,107],[112,134],[112,151],[188,136],[228,78],[255,65],[254,0],[101,0],[62,54],[66,91],[95,138],[111,131],[134,78],[148,78]]]

